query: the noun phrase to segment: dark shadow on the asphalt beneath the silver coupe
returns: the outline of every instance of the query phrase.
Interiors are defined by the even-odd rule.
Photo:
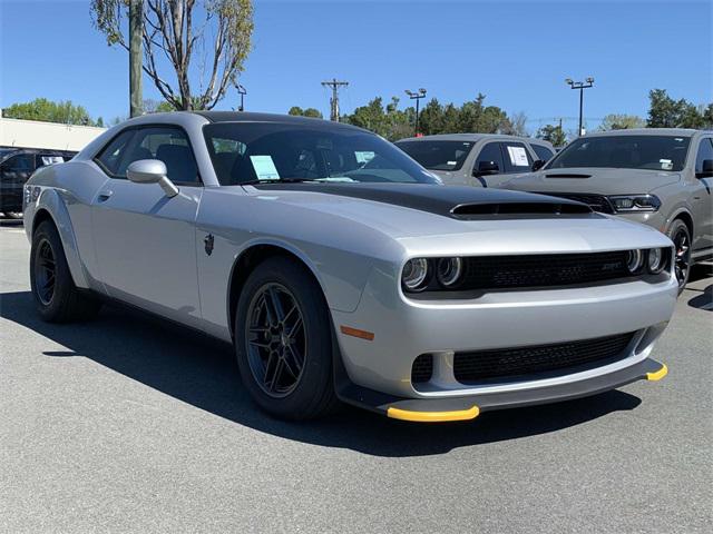
[[[251,402],[227,345],[123,308],[105,307],[92,322],[39,319],[29,291],[0,294],[0,315],[47,338],[45,357],[85,357],[166,395],[240,425],[309,444],[375,456],[426,456],[453,448],[535,436],[579,425],[641,399],[619,390],[566,403],[481,414],[470,423],[418,425],[351,407],[315,421],[271,418]],[[56,344],[65,350],[50,349]]]

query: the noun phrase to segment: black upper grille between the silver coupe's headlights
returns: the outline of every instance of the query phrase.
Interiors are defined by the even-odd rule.
[[[592,284],[632,276],[626,250],[537,256],[484,256],[466,260],[461,290]]]

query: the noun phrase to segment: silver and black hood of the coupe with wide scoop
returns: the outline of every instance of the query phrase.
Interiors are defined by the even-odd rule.
[[[490,254],[498,249],[605,250],[665,246],[657,231],[594,214],[580,202],[501,189],[431,185],[270,184],[246,186],[256,217],[275,217],[304,226],[304,235],[346,222],[350,231],[368,227],[399,240],[411,251],[458,250]],[[260,215],[257,215],[260,214]],[[302,221],[302,222],[300,222]],[[346,228],[346,227],[345,227]],[[616,239],[612,236],[616,235]]]

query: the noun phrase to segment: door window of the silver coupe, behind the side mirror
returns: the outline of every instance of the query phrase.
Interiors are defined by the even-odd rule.
[[[193,150],[186,134],[180,128],[156,126],[136,130],[117,175],[125,177],[128,166],[139,159],[163,161],[166,165],[168,178],[176,184],[199,182]]]

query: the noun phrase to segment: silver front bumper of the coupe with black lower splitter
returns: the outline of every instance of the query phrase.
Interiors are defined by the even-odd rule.
[[[428,405],[431,407],[427,412],[466,409],[470,411],[466,415],[472,416],[473,406],[480,412],[557,402],[646,377],[661,368],[649,355],[677,296],[677,284],[670,276],[657,283],[495,291],[472,300],[416,300],[393,289],[398,288],[394,276],[388,269],[374,269],[356,310],[332,310],[345,377],[338,388],[340,395],[346,402],[384,413],[390,407],[423,412]],[[349,328],[371,336],[345,334]],[[501,382],[465,384],[453,375],[453,354],[458,352],[558,344],[622,333],[635,335],[613,363]],[[411,367],[422,354],[433,356],[433,375],[414,387]]]

